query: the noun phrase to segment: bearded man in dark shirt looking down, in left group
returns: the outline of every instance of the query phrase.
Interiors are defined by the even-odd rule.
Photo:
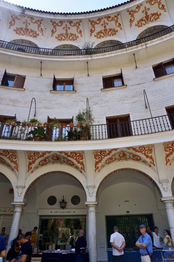
[[[28,262],[30,261],[32,255],[32,246],[30,242],[26,239],[24,234],[19,234],[16,239],[17,243],[21,245],[20,255],[21,258],[16,260],[17,262]]]

